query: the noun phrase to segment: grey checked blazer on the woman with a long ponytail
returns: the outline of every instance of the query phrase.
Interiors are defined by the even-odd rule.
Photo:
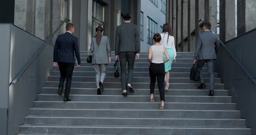
[[[92,51],[92,64],[109,63],[108,57],[111,56],[111,49],[107,36],[102,35],[99,45],[96,43],[96,37],[93,37],[90,50]]]

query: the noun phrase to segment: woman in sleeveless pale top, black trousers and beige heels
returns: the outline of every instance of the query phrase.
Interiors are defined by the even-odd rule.
[[[154,45],[148,48],[148,62],[150,62],[149,75],[150,75],[150,102],[154,102],[154,86],[156,77],[158,79],[158,89],[161,99],[160,109],[164,109],[164,63],[169,61],[169,55],[164,46],[160,45],[161,35],[155,34],[153,37]],[[163,55],[166,59],[163,60]]]

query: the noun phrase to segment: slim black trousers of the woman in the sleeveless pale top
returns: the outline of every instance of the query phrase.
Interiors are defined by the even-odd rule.
[[[164,63],[160,63],[160,64],[150,63],[149,76],[150,76],[150,94],[154,94],[154,86],[157,78],[160,99],[161,101],[165,101],[164,99],[164,76],[165,76]]]

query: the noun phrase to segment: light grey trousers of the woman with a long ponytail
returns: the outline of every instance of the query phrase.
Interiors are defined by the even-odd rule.
[[[106,77],[107,64],[93,64],[96,71],[96,86],[99,86],[99,81],[104,81]]]

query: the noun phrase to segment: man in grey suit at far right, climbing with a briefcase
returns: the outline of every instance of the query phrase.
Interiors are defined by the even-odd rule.
[[[197,62],[197,67],[201,70],[203,65],[207,63],[207,68],[210,76],[210,93],[209,96],[214,96],[214,61],[217,59],[217,51],[220,48],[220,42],[216,34],[210,32],[211,24],[203,24],[203,32],[198,36],[197,48],[194,55],[194,63]],[[205,88],[203,74],[200,74],[200,86],[198,89]]]

